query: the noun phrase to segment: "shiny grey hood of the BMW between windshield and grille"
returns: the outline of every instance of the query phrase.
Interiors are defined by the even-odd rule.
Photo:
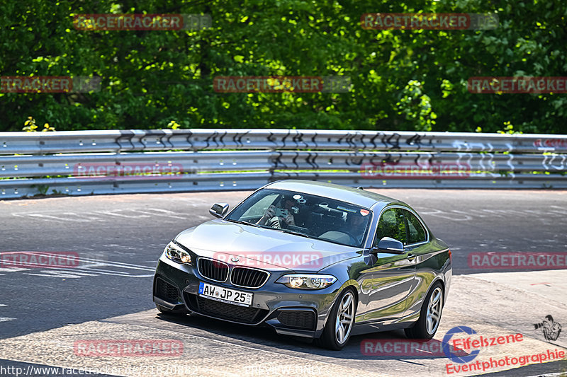
[[[182,231],[176,243],[230,265],[316,272],[362,254],[359,248],[221,219]]]

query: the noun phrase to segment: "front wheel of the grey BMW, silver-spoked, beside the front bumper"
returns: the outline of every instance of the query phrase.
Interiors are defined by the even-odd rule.
[[[315,344],[327,349],[342,349],[349,340],[356,312],[357,298],[352,289],[345,289],[332,307],[327,324],[321,337],[315,339]]]

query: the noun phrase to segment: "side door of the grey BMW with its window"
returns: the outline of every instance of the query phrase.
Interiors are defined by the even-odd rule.
[[[383,237],[408,243],[408,231],[403,211],[388,207],[380,216],[373,247]],[[403,254],[377,253],[372,265],[361,271],[359,284],[361,302],[364,300],[364,317],[359,320],[388,323],[403,316],[408,304],[406,298],[415,277],[415,264]]]

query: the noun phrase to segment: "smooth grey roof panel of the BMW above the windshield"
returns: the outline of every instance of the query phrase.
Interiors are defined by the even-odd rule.
[[[366,208],[372,207],[377,202],[401,203],[398,199],[376,194],[376,192],[335,185],[334,183],[315,182],[312,180],[279,180],[264,187],[302,192],[303,194],[318,195],[321,197],[330,197]]]

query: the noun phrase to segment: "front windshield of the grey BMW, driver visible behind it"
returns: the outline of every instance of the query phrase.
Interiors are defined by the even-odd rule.
[[[362,247],[371,211],[328,197],[264,189],[254,192],[225,220],[309,238]]]

